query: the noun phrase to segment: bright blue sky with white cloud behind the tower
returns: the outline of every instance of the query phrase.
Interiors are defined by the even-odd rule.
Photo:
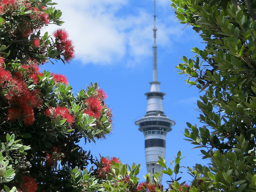
[[[107,103],[113,110],[114,129],[106,140],[97,140],[83,146],[96,156],[120,157],[123,163],[141,164],[139,178],[146,172],[144,135],[134,124],[146,114],[147,100],[153,73],[153,0],[55,0],[62,11],[65,28],[73,40],[76,59],[69,64],[45,64],[41,69],[67,76],[73,92],[85,89],[86,84],[97,82],[108,94]],[[201,160],[200,150],[183,136],[186,122],[199,124],[196,102],[198,90],[186,85],[175,65],[179,57],[194,56],[192,47],[203,49],[204,44],[192,28],[180,24],[170,7],[171,1],[156,0],[157,70],[160,90],[164,96],[164,112],[176,125],[166,137],[166,160],[180,150],[183,166],[192,167]],[[49,26],[50,33],[59,28]],[[191,180],[183,169],[181,181]],[[165,180],[170,180],[164,177]],[[164,184],[164,187],[167,187]]]

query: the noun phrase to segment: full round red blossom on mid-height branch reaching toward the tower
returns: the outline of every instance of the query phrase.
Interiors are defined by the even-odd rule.
[[[103,108],[101,101],[96,97],[89,97],[85,103],[87,104],[87,108],[85,108],[84,113],[93,116],[93,118],[100,118],[101,110]]]

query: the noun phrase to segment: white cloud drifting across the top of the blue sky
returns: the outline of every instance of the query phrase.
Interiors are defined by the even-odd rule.
[[[137,65],[143,58],[152,55],[153,15],[142,8],[136,14],[120,14],[128,0],[55,0],[62,11],[65,23],[62,25],[73,40],[76,59],[83,63],[113,64],[124,57],[127,65]],[[150,0],[152,2],[152,0]],[[149,3],[150,3],[149,2]],[[170,1],[157,0],[161,6]],[[132,7],[129,9],[133,9]],[[170,27],[157,20],[157,44],[171,46],[170,36],[180,36],[181,28]],[[47,31],[53,31],[51,26]],[[123,62],[122,62],[123,63]],[[129,64],[130,63],[130,64]]]

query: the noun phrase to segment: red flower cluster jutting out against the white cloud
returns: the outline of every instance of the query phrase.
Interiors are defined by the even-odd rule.
[[[56,39],[56,49],[62,53],[64,60],[72,60],[75,57],[75,50],[72,41],[68,39],[68,33],[64,29],[57,29],[53,36]]]

